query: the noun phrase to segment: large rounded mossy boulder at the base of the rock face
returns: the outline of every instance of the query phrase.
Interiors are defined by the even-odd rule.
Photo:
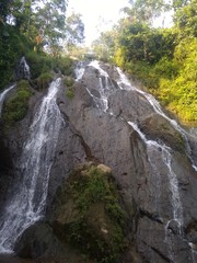
[[[127,248],[127,214],[117,185],[96,165],[85,164],[70,174],[58,190],[54,209],[57,237],[89,259],[115,263]]]

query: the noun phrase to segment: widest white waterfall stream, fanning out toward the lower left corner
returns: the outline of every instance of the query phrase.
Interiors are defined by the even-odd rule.
[[[56,104],[61,79],[51,82],[30,127],[21,157],[20,185],[12,193],[0,217],[1,252],[12,251],[23,230],[45,213],[50,168],[63,124]]]

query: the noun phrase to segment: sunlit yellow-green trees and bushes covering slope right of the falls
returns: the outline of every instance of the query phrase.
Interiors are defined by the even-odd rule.
[[[165,10],[174,12],[174,25],[153,27]],[[97,57],[136,76],[183,123],[197,126],[197,1],[136,0],[125,12],[94,42]]]

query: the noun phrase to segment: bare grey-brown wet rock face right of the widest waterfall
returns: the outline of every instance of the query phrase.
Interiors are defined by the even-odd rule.
[[[65,125],[50,170],[47,218],[58,186],[76,165],[86,161],[104,163],[118,183],[129,217],[129,244],[120,262],[194,263],[197,174],[185,153],[183,138],[155,113],[143,94],[119,89],[115,67],[101,67],[109,79],[97,68],[86,66],[73,87],[73,99],[65,95],[65,87],[59,91],[57,102]],[[103,96],[101,87],[108,96],[105,111],[99,103]],[[26,118],[26,126],[21,123],[19,130],[27,129],[27,119],[31,122],[31,117]],[[144,138],[128,122],[136,123]],[[11,141],[16,142],[20,135],[22,144],[26,136],[19,130],[7,135],[12,156],[20,147],[18,144],[14,148]],[[195,157],[196,139],[192,137],[189,144]]]

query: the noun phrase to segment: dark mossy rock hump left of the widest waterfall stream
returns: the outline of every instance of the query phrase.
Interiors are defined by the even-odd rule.
[[[25,117],[31,95],[28,82],[21,80],[16,85],[16,93],[7,102],[2,114],[7,125],[13,125]]]

